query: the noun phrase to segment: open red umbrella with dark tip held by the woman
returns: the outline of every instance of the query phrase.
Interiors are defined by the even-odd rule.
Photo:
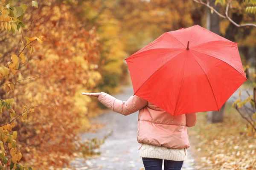
[[[198,25],[166,32],[125,60],[134,94],[174,116],[219,111],[247,80],[237,43]]]

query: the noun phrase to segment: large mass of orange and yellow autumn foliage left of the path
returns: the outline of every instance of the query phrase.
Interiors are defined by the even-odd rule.
[[[14,148],[12,161],[5,155],[1,158],[2,163],[18,167],[22,153],[22,161],[49,169],[68,166],[82,145],[81,120],[93,114],[88,110],[96,102],[80,93],[94,91],[102,79],[98,71],[102,45],[96,28],[86,29],[86,22],[81,23],[67,1],[44,0],[37,7],[35,1],[9,4],[2,0],[0,8],[4,29],[0,132],[1,141],[6,142],[2,153],[6,147]]]

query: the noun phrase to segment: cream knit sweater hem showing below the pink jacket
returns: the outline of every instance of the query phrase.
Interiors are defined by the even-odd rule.
[[[172,161],[185,161],[187,158],[187,150],[172,149],[163,146],[154,146],[151,144],[142,144],[140,147],[140,157],[143,158],[157,158]]]

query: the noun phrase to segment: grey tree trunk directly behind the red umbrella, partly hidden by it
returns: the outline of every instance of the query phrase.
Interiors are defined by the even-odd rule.
[[[215,6],[215,0],[210,0],[210,6]],[[219,11],[219,6],[215,9]],[[220,18],[217,14],[212,13],[210,9],[207,9],[207,29],[214,32],[215,34],[220,34]],[[209,111],[207,112],[207,123],[217,123],[223,122],[225,112],[225,104],[220,108],[220,111]]]

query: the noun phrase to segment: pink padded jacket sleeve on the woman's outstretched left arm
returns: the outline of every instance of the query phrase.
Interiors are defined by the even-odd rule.
[[[109,94],[101,92],[98,100],[112,111],[121,113],[125,116],[135,113],[148,105],[148,102],[145,99],[136,95],[131,96],[126,102],[123,102]]]

